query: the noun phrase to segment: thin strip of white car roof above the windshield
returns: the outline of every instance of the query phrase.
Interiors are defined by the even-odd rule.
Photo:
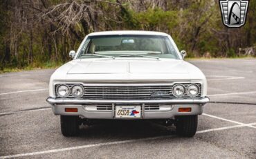
[[[140,31],[140,30],[92,32],[88,36],[97,36],[97,35],[162,35],[162,36],[168,36],[165,32]]]

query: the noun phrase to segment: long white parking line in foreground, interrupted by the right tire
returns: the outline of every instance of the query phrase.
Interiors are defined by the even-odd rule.
[[[256,124],[256,123],[251,123],[251,124]],[[239,125],[230,126],[230,127],[208,129],[208,130],[203,130],[203,131],[197,131],[196,133],[208,133],[208,132],[212,132],[212,131],[235,129],[238,127],[247,127],[247,125],[251,125],[251,124],[245,124],[246,126],[239,124]],[[105,143],[98,143],[98,144],[86,144],[86,145],[77,146],[77,147],[66,147],[66,148],[62,148],[62,149],[51,149],[51,150],[36,151],[36,152],[31,152],[31,153],[20,153],[20,154],[10,155],[10,156],[0,156],[0,158],[19,158],[19,157],[25,157],[25,156],[35,156],[35,155],[42,155],[42,154],[47,154],[47,153],[71,151],[71,150],[76,150],[76,149],[88,149],[91,147],[102,147],[102,146],[108,146],[108,145],[114,145],[114,144],[126,144],[126,143],[131,143],[131,142],[138,142],[138,141],[149,141],[149,140],[156,140],[156,139],[162,139],[162,138],[170,138],[172,136],[173,135],[164,135],[164,136],[157,136],[157,137],[153,137],[153,138],[141,138],[141,139],[134,139],[134,140],[122,140],[122,141],[105,142]]]

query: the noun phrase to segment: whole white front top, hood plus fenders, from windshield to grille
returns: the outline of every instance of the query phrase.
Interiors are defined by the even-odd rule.
[[[205,79],[180,59],[75,59],[53,73],[55,82],[170,82]]]

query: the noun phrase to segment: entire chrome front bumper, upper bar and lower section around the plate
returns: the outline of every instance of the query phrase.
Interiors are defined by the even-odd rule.
[[[70,99],[70,98],[54,98],[48,97],[46,100],[52,105],[53,113],[55,115],[80,115],[88,119],[113,119],[115,105],[118,104],[141,104],[143,111],[143,119],[167,119],[173,118],[175,115],[199,115],[203,113],[203,105],[210,101],[209,97],[200,99],[174,99],[174,100],[84,100],[84,99]],[[94,110],[88,111],[86,104],[111,104],[113,109],[111,111]],[[146,111],[144,104],[161,104],[163,106],[170,106],[170,110],[151,110]],[[191,107],[191,112],[179,112],[179,108]],[[77,108],[77,112],[65,112],[65,108]]]

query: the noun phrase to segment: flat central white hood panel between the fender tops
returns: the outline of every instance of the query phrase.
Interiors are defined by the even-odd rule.
[[[77,60],[68,74],[108,74],[108,73],[188,73],[182,60],[124,60],[98,59]]]

